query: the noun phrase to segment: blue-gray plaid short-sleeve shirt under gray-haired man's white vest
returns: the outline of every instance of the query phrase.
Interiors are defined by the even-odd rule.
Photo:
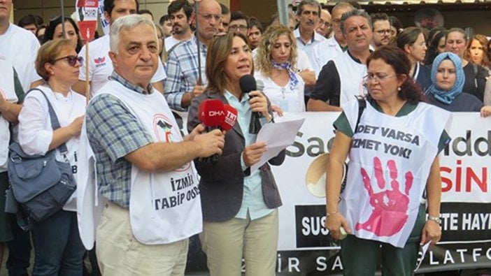
[[[135,93],[147,93],[115,72],[111,79]],[[85,116],[87,136],[97,160],[99,191],[109,201],[129,208],[131,163],[124,157],[152,143],[152,136],[120,99],[109,94],[101,94],[91,101]]]

